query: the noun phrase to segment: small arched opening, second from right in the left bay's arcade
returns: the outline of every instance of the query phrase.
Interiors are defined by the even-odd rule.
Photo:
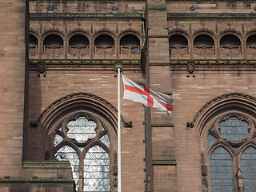
[[[114,39],[102,34],[94,41],[94,54],[114,54]]]

